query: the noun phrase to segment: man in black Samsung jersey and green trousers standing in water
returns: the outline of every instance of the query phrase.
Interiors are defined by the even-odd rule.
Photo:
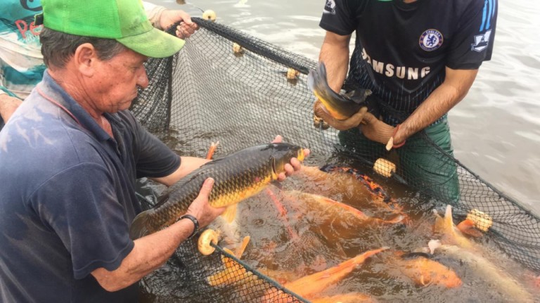
[[[367,112],[334,120],[320,101],[315,114],[339,129],[342,145],[357,152],[367,146],[381,150],[392,138],[409,183],[436,198],[458,200],[454,162],[433,157],[418,134],[425,131],[452,155],[446,113],[468,93],[482,62],[491,59],[497,6],[497,0],[326,0],[319,61],[326,64],[328,84],[338,92],[371,89],[380,117]]]

